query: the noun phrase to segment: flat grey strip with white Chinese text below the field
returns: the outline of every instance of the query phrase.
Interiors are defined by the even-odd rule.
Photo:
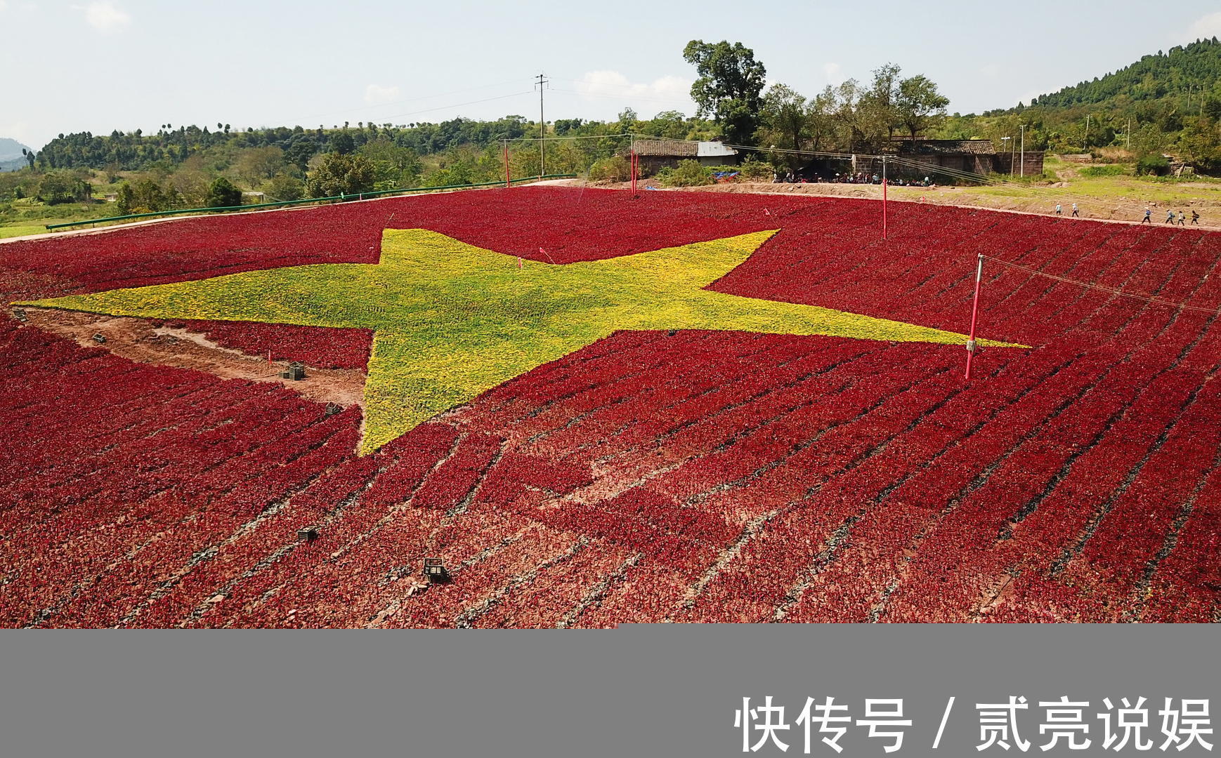
[[[0,632],[0,754],[27,756],[1016,756],[984,751],[977,703],[1024,697],[1029,754],[1211,756],[1188,738],[1221,680],[1216,626],[623,626],[606,631]],[[955,698],[933,749],[947,699]],[[1059,715],[1040,702],[1067,697]],[[1104,720],[1147,698],[1148,724],[1116,751]],[[1165,698],[1179,741],[1161,749]],[[902,747],[869,737],[866,698],[899,699]],[[1109,709],[1104,698],[1110,698]],[[1085,702],[1085,707],[1072,703]],[[875,712],[894,704],[875,703]],[[1186,710],[1183,710],[1186,707]],[[1088,731],[1072,726],[1073,710]],[[1063,721],[1065,712],[1068,721]],[[1210,710],[1211,713],[1211,710]],[[899,716],[893,716],[899,718]],[[1136,716],[1128,714],[1131,723]],[[1040,734],[1040,725],[1055,723]],[[873,719],[879,720],[879,719]],[[1211,720],[1211,719],[1209,719]],[[844,726],[836,741],[822,741]],[[1211,727],[1211,723],[1206,724]],[[1063,736],[1050,751],[1051,731]],[[996,735],[998,732],[993,732]],[[1068,749],[1070,736],[1085,749]],[[1131,736],[1131,735],[1129,735]],[[1203,734],[1208,742],[1215,735]],[[1138,751],[1136,741],[1151,741]]]

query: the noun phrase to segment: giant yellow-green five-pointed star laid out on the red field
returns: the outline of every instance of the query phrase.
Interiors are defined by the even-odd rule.
[[[426,229],[386,229],[377,264],[288,266],[23,305],[372,330],[363,454],[615,330],[965,342],[923,326],[706,289],[774,233],[549,265]]]

